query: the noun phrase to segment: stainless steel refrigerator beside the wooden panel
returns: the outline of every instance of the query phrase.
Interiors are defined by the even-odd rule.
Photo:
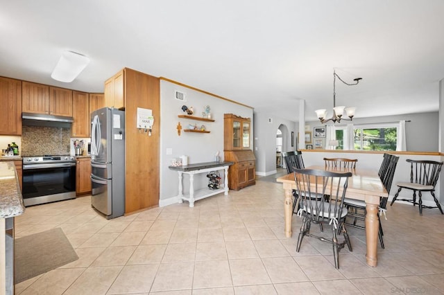
[[[108,219],[125,213],[125,111],[91,113],[91,204]]]

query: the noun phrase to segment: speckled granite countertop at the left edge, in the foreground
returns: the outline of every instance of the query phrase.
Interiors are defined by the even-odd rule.
[[[22,215],[25,211],[14,162],[0,162],[0,218]]]

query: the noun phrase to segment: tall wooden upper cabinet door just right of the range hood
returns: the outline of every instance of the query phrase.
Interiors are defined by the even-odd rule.
[[[72,136],[89,137],[89,94],[74,91],[72,93]]]

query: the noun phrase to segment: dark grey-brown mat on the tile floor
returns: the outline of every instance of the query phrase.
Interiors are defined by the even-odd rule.
[[[60,227],[15,240],[15,284],[78,260]]]

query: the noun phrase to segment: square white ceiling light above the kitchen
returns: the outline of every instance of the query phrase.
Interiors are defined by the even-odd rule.
[[[60,82],[72,82],[89,64],[89,58],[73,51],[64,51],[56,67],[51,73],[51,78]]]

